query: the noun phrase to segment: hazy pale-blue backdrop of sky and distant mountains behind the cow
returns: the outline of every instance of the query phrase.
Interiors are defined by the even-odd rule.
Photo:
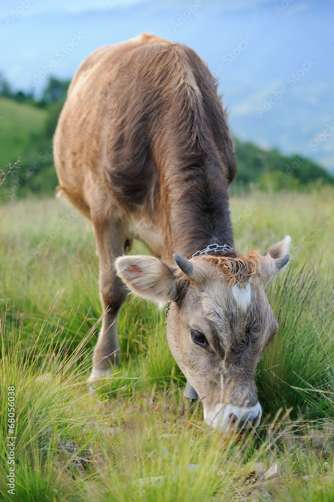
[[[207,61],[238,138],[289,155],[307,151],[334,172],[333,2],[122,2],[74,12],[38,12],[36,3],[9,24],[4,17],[5,77],[41,93],[48,75],[70,78],[97,47],[152,32]]]

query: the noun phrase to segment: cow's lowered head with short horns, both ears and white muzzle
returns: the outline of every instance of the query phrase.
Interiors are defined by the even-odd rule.
[[[264,288],[288,262],[289,242],[287,236],[264,255],[174,255],[178,267],[148,256],[116,261],[118,275],[136,295],[161,305],[171,301],[168,343],[213,428],[260,423],[255,371],[278,328]]]

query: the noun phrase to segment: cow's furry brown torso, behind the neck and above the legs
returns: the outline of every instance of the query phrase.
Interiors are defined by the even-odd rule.
[[[102,47],[80,65],[59,118],[60,191],[87,215],[108,197],[129,211],[158,206],[167,164],[197,148],[197,126],[227,158],[231,178],[224,112],[200,58],[150,35]]]

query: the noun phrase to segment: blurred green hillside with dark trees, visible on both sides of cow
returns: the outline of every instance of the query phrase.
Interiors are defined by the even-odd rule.
[[[22,161],[15,177],[8,179],[7,193],[19,196],[54,193],[57,176],[53,166],[52,136],[63,103],[56,97],[59,93],[65,94],[67,85],[68,82],[50,81],[45,92],[47,101],[35,102],[35,106],[0,97],[0,167],[13,164],[19,157]],[[265,151],[238,139],[235,139],[235,150],[238,173],[232,185],[234,193],[250,183],[271,191],[305,190],[309,185],[334,183],[334,178],[310,158],[283,156],[277,150]]]

